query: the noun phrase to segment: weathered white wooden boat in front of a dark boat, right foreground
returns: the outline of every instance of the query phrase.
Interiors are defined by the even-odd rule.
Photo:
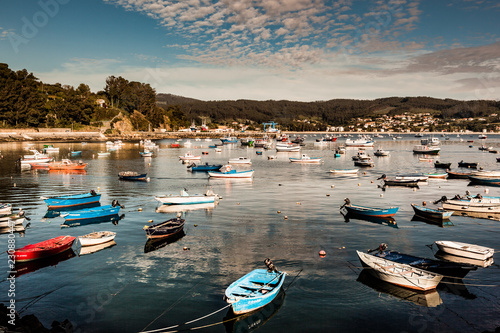
[[[371,254],[356,251],[363,267],[382,281],[415,290],[433,290],[443,276],[406,264],[400,264]]]

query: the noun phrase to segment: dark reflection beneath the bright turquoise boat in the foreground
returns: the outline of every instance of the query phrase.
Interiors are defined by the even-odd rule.
[[[226,332],[251,332],[257,330],[278,312],[284,300],[285,292],[281,289],[271,303],[257,311],[237,316],[230,308],[223,319]]]

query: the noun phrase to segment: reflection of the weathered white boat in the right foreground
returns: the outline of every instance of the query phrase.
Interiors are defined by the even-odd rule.
[[[382,292],[384,294],[412,302],[419,306],[433,308],[443,303],[443,300],[435,289],[422,292],[399,287],[371,276],[367,270],[362,270],[356,281],[361,282],[365,286],[368,286],[377,292]]]

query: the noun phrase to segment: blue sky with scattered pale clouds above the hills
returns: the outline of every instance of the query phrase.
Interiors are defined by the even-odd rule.
[[[498,0],[4,0],[0,62],[214,100],[500,100]]]

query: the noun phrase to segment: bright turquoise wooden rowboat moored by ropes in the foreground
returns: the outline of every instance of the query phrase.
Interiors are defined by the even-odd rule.
[[[286,273],[278,271],[274,265],[272,267],[272,270],[255,269],[227,287],[224,299],[231,304],[234,314],[255,311],[274,300],[283,286]]]

